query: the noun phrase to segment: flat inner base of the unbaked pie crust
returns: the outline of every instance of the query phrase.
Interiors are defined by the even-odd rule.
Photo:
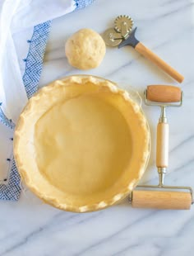
[[[47,111],[35,126],[35,149],[50,183],[85,197],[113,186],[132,156],[127,122],[98,95],[72,98]]]

